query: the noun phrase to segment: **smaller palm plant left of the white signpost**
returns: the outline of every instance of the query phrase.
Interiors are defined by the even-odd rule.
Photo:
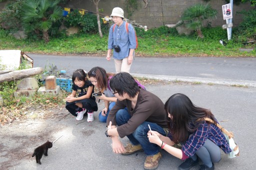
[[[217,11],[212,9],[210,4],[194,4],[183,11],[181,19],[184,21],[185,27],[197,32],[200,38],[203,38],[201,28],[203,20],[216,17]]]

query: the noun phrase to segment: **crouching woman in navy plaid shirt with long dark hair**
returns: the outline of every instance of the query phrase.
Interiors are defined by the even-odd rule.
[[[204,108],[196,107],[184,94],[172,95],[164,105],[168,116],[169,134],[164,137],[155,131],[148,131],[149,142],[164,149],[169,154],[184,161],[179,170],[189,170],[202,161],[199,170],[214,170],[214,164],[227,158],[231,152],[225,136],[215,125],[213,114]],[[214,124],[198,121],[209,118]],[[172,147],[180,143],[181,149]]]

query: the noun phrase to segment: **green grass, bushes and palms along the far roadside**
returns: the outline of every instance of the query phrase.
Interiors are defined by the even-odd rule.
[[[97,19],[96,16],[90,13],[81,15],[78,10],[73,10],[68,14],[68,17],[61,18],[61,23],[66,27],[77,26],[79,32],[74,35],[67,36],[65,31],[62,29],[58,30],[60,23],[51,23],[45,21],[42,22],[35,19],[38,23],[28,24],[28,27],[38,28],[41,31],[35,29],[28,34],[27,39],[16,40],[10,33],[16,31],[21,24],[21,21],[33,19],[32,8],[29,12],[25,12],[22,9],[23,2],[39,3],[37,14],[38,16],[44,16],[45,19],[52,21],[58,20],[58,15],[55,15],[54,11],[59,8],[54,8],[54,5],[46,8],[49,4],[46,3],[48,0],[16,0],[15,3],[7,5],[2,12],[0,12],[0,47],[1,49],[20,49],[24,52],[34,53],[51,53],[51,54],[88,54],[88,55],[106,55],[107,51],[107,40],[108,40],[108,25],[101,23],[101,29],[103,37],[100,38],[97,34]],[[55,2],[59,0],[53,0]],[[51,0],[51,2],[53,2]],[[61,0],[65,1],[65,0]],[[45,3],[43,3],[45,2]],[[136,6],[134,0],[127,1],[131,6]],[[46,5],[47,4],[47,5]],[[47,15],[43,15],[45,12],[39,12],[44,9]],[[53,9],[53,10],[52,10]],[[24,11],[26,17],[20,16],[19,13]],[[42,10],[42,11],[45,11]],[[53,13],[52,13],[53,12]],[[21,12],[22,13],[22,12]],[[36,13],[36,12],[35,12]],[[158,28],[151,28],[148,31],[135,27],[136,34],[138,37],[138,48],[136,49],[137,56],[256,56],[256,50],[251,52],[240,52],[239,48],[254,48],[256,47],[256,10],[243,11],[244,21],[237,27],[232,28],[232,39],[227,42],[226,30],[221,27],[211,27],[210,22],[206,22],[206,25],[202,25],[205,19],[214,17],[216,14],[215,10],[211,9],[209,5],[196,4],[188,7],[182,16],[188,27],[194,30],[192,35],[178,35],[175,28],[168,28],[167,26],[160,26]],[[31,17],[29,17],[31,16]],[[54,17],[55,19],[53,19]],[[22,20],[22,19],[23,20]],[[29,19],[28,19],[29,18]],[[25,20],[24,20],[25,19]],[[62,20],[63,19],[63,20]],[[203,21],[204,20],[204,21]],[[29,22],[30,23],[30,22]],[[26,24],[23,24],[25,28]],[[39,27],[39,25],[43,27]],[[50,27],[49,27],[50,26]],[[63,26],[63,25],[62,25]],[[25,29],[27,30],[27,29]],[[32,29],[28,29],[32,30]],[[47,35],[47,30],[49,34]],[[43,32],[43,33],[42,33]],[[197,38],[201,36],[203,38]],[[50,37],[50,41],[47,36]],[[41,38],[44,38],[41,39]],[[219,43],[222,39],[227,42],[226,46]]]

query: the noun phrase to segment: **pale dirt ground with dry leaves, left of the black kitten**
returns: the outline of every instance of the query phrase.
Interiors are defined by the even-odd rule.
[[[64,106],[49,110],[37,107],[29,114],[36,115],[36,118],[27,116],[0,126],[0,170],[15,167],[22,159],[31,159],[38,144],[41,145],[49,139],[53,141],[53,134],[64,128],[57,122],[72,117]],[[51,125],[48,125],[48,121]],[[54,122],[55,124],[52,124]]]

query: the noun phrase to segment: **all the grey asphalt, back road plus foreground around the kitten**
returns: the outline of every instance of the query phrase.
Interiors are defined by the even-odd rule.
[[[101,66],[114,72],[113,60],[107,62],[104,57],[84,56],[48,56],[28,54],[34,60],[34,67],[44,67],[52,63],[59,69],[72,70],[83,68],[89,70]],[[255,58],[139,58],[133,62],[131,73],[157,78],[179,77],[186,80],[223,80],[230,82],[255,83]],[[159,76],[159,77],[158,77]],[[148,84],[146,89],[156,94],[163,102],[174,93],[186,94],[191,101],[200,107],[210,109],[225,129],[233,132],[234,141],[240,148],[240,156],[225,162],[216,163],[216,170],[254,170],[256,166],[254,147],[256,134],[255,110],[256,88],[234,87],[218,84],[165,83]],[[129,156],[112,153],[111,141],[104,136],[105,124],[98,122],[98,113],[94,113],[94,121],[76,124],[74,117],[65,119],[30,120],[0,127],[0,169],[7,164],[6,170],[142,170],[145,161],[143,152]],[[66,115],[63,108],[60,114]],[[58,114],[57,112],[54,114]],[[41,135],[43,134],[43,136]],[[42,158],[42,165],[35,163],[31,154],[37,146],[48,139],[53,141],[63,135],[52,149],[48,157]],[[29,139],[37,139],[33,143]],[[122,139],[125,145],[127,138]],[[28,147],[29,146],[29,147]],[[24,153],[23,159],[16,159],[15,154]],[[181,160],[161,151],[162,158],[157,170],[176,170]],[[15,161],[13,161],[15,160]],[[4,169],[4,170],[5,170]],[[198,169],[198,166],[191,170]]]

